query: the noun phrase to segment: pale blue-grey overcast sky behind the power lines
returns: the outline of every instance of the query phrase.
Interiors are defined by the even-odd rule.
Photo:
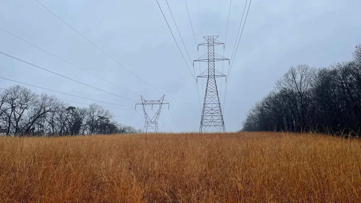
[[[231,58],[246,3],[245,0],[232,0],[226,36],[230,0],[187,0],[195,42],[184,0],[168,0],[190,60],[166,1],[158,0],[186,59],[184,62],[156,0],[39,1],[150,86],[110,59],[36,0],[0,1],[0,28],[129,91],[57,59],[3,30],[0,30],[0,52],[130,100],[70,81],[2,54],[0,77],[130,107],[134,107],[134,101],[140,100],[139,95],[156,100],[165,94],[171,108],[170,111],[168,107],[162,110],[158,125],[160,130],[172,131],[199,130],[201,109],[196,86],[203,103],[206,80],[199,79],[196,84],[186,65],[187,62],[193,72],[191,60],[197,59],[198,54],[206,53],[206,47],[200,47],[197,51],[196,42],[203,42],[203,36],[219,35],[218,40],[225,42],[224,56]],[[247,8],[248,4],[249,1]],[[225,108],[222,109],[226,130],[235,131],[242,127],[249,107],[266,95],[274,82],[291,66],[308,64],[324,67],[350,60],[354,47],[361,42],[359,8],[360,0],[253,0],[238,51],[231,59],[234,64],[227,79]],[[215,48],[215,51],[223,55],[223,46]],[[205,62],[200,66],[195,63],[194,72],[199,75],[206,68]],[[223,72],[228,72],[228,68],[228,62],[225,62]],[[222,62],[216,63],[216,69],[222,71]],[[0,79],[1,87],[14,84],[16,82]],[[225,81],[218,78],[217,85],[223,107]],[[93,103],[91,100],[26,87],[39,94],[55,94],[59,99]],[[116,121],[143,128],[143,118],[133,109],[127,109],[130,110],[110,111],[116,116]],[[142,109],[137,111],[143,115]]]

